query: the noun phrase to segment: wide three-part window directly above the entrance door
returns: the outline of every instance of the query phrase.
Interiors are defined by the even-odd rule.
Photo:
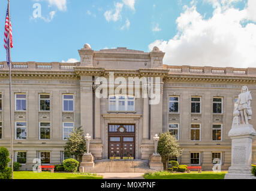
[[[134,111],[134,97],[132,96],[110,96],[109,110],[110,111]]]

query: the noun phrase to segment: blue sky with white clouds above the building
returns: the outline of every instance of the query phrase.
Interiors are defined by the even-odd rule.
[[[157,46],[173,66],[256,67],[256,0],[10,0],[10,13],[13,61],[76,62],[88,43],[97,51]]]

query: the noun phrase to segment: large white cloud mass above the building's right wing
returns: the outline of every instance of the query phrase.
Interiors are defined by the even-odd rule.
[[[248,0],[242,10],[233,7],[239,0],[207,0],[214,4],[213,16],[204,19],[196,6],[185,6],[177,18],[177,34],[168,41],[149,45],[164,51],[165,64],[215,67],[255,67],[256,3]],[[247,24],[246,24],[247,23]]]

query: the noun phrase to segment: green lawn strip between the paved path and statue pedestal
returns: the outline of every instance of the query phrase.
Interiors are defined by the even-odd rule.
[[[224,179],[227,172],[203,171],[202,173],[154,172],[143,175],[145,179]]]

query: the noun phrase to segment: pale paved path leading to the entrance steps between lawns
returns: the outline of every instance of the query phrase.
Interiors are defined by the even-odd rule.
[[[142,175],[144,172],[109,172],[109,173],[97,173],[98,175],[103,175],[103,179],[144,179]]]

